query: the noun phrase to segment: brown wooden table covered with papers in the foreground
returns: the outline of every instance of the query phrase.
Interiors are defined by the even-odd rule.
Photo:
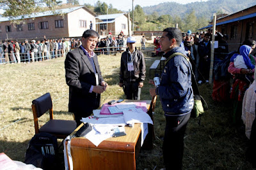
[[[111,101],[109,99],[108,101]],[[107,103],[106,101],[105,103]],[[125,100],[124,102],[136,102]],[[141,102],[141,101],[140,101]],[[147,109],[151,101],[145,101]],[[79,128],[73,132],[75,133]],[[125,127],[126,136],[108,138],[99,146],[86,138],[72,138],[70,143],[74,169],[136,169],[136,157],[141,147],[141,127]],[[67,145],[67,144],[66,144]]]

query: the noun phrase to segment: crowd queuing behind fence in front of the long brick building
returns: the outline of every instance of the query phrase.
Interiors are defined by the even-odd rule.
[[[0,41],[0,64],[56,59],[80,45],[81,40],[74,38]]]

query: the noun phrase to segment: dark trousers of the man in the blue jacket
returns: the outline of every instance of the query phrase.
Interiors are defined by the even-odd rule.
[[[166,117],[163,157],[166,169],[182,169],[184,135],[190,113],[182,117]]]

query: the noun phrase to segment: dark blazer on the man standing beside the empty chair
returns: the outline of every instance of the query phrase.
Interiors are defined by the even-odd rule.
[[[93,56],[95,69],[99,74],[99,83],[104,81],[101,75],[97,55]],[[96,85],[95,73],[88,57],[81,48],[68,52],[65,59],[66,82],[69,86],[68,111],[87,117],[92,110],[100,106],[100,94],[89,93],[90,87]]]

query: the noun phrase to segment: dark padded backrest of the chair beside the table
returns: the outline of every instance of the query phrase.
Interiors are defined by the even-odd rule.
[[[32,101],[35,133],[39,133],[38,118],[49,110],[50,119],[53,119],[51,94],[47,93]]]

